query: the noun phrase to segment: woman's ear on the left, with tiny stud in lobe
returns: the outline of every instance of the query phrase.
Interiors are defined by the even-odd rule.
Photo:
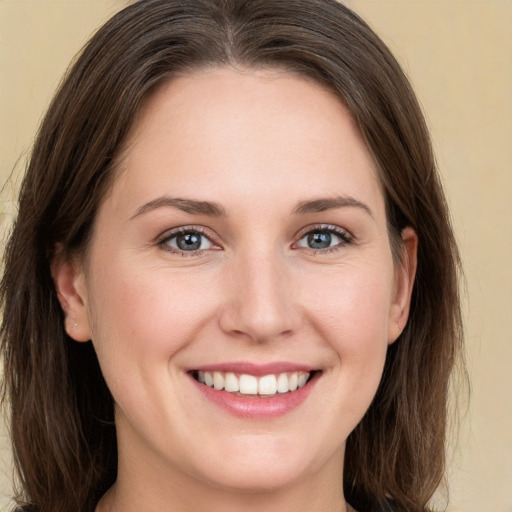
[[[66,332],[75,341],[89,341],[91,329],[81,262],[66,257],[62,246],[58,244],[51,263],[51,274],[64,311]]]

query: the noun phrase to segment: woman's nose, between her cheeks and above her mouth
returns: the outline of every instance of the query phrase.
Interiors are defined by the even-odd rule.
[[[284,257],[246,255],[227,272],[229,284],[219,318],[224,332],[262,343],[291,336],[300,328],[297,283]]]

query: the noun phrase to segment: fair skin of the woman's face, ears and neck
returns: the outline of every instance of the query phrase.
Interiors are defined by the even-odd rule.
[[[151,203],[163,196],[224,214]],[[297,211],[339,197],[358,203]],[[201,250],[163,241],[183,226],[203,231]],[[341,234],[311,249],[306,234],[325,229]],[[216,68],[161,86],[87,254],[52,268],[67,331],[92,339],[116,402],[119,476],[98,512],[345,511],[345,441],[407,321],[417,240],[402,236],[395,265],[376,165],[320,85]],[[186,373],[226,361],[322,373],[300,406],[254,420],[206,400]]]

